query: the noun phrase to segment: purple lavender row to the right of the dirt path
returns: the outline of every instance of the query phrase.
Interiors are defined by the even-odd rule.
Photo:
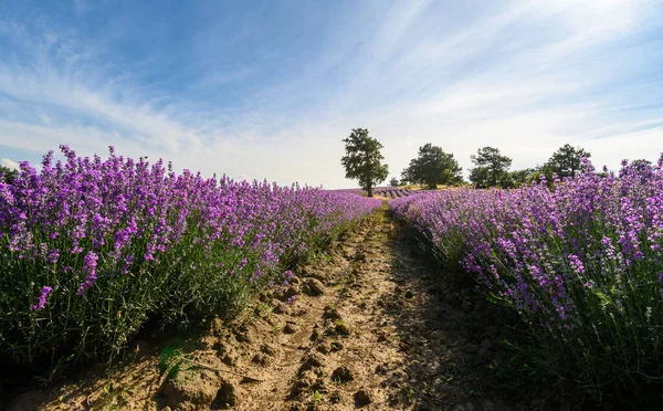
[[[460,189],[390,202],[446,264],[522,318],[538,363],[583,387],[661,375],[663,171]]]

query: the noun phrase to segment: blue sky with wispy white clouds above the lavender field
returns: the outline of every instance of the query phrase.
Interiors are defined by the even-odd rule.
[[[391,176],[433,143],[514,168],[663,151],[663,2],[3,1],[0,162],[78,154],[352,187],[368,128]]]

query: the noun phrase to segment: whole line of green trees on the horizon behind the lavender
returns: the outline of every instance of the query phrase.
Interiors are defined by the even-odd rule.
[[[349,137],[343,140],[346,144],[346,155],[341,164],[346,169],[346,178],[359,180],[369,197],[372,189],[385,181],[389,175],[389,167],[382,164],[382,145],[369,136],[368,129],[355,128]],[[470,182],[476,188],[517,188],[525,183],[538,181],[543,176],[552,182],[555,178],[564,179],[573,177],[582,170],[582,158],[591,154],[581,147],[564,145],[552,152],[543,166],[511,170],[512,158],[503,155],[495,147],[482,147],[475,155],[470,156],[473,168],[470,169]],[[638,160],[642,167],[651,166],[646,160]],[[459,166],[453,154],[446,152],[440,146],[427,143],[419,147],[417,158],[410,160],[408,167],[401,172],[400,180],[392,177],[389,186],[424,185],[434,189],[439,185],[457,186],[463,181],[463,169]]]

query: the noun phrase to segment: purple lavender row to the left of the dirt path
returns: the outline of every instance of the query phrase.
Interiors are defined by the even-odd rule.
[[[0,355],[24,361],[113,351],[148,316],[233,310],[380,207],[61,149],[0,182]]]

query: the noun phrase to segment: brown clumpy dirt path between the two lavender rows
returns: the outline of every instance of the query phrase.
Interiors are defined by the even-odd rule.
[[[382,210],[232,327],[144,347],[105,378],[92,370],[9,409],[517,409],[476,371],[496,334],[473,329],[481,303],[439,278]]]

